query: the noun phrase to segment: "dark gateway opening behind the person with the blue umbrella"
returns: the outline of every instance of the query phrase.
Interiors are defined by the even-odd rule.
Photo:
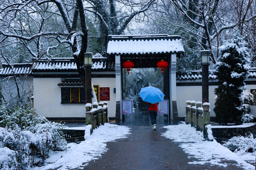
[[[133,114],[122,115],[123,125],[151,125],[149,104],[139,96],[140,89],[149,85],[159,88],[165,94],[164,100],[170,100],[168,69],[164,74],[159,68],[132,68],[129,74],[126,68],[122,69],[122,100],[133,101]],[[157,124],[168,125],[168,115],[158,115]]]

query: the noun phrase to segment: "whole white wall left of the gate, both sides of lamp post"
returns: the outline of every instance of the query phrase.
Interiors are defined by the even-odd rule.
[[[92,78],[93,85],[110,87],[109,117],[116,116],[115,78]],[[46,113],[49,118],[85,117],[85,104],[61,104],[61,78],[34,78],[34,108],[37,114]]]

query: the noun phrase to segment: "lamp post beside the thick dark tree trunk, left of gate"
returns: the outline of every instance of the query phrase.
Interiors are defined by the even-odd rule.
[[[85,66],[85,103],[91,103],[92,93],[91,93],[91,58],[92,53],[84,53],[84,66]]]

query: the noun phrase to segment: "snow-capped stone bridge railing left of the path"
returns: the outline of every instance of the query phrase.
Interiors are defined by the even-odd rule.
[[[108,102],[93,102],[92,105],[87,103],[85,108],[86,125],[91,125],[91,133],[95,128],[109,123]]]

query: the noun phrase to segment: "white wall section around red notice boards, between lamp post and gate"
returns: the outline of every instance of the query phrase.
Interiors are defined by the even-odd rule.
[[[110,87],[110,101],[108,102],[108,112],[110,118],[116,117],[116,94],[114,88],[116,87],[116,78],[92,78],[93,85],[99,85],[100,87]]]

